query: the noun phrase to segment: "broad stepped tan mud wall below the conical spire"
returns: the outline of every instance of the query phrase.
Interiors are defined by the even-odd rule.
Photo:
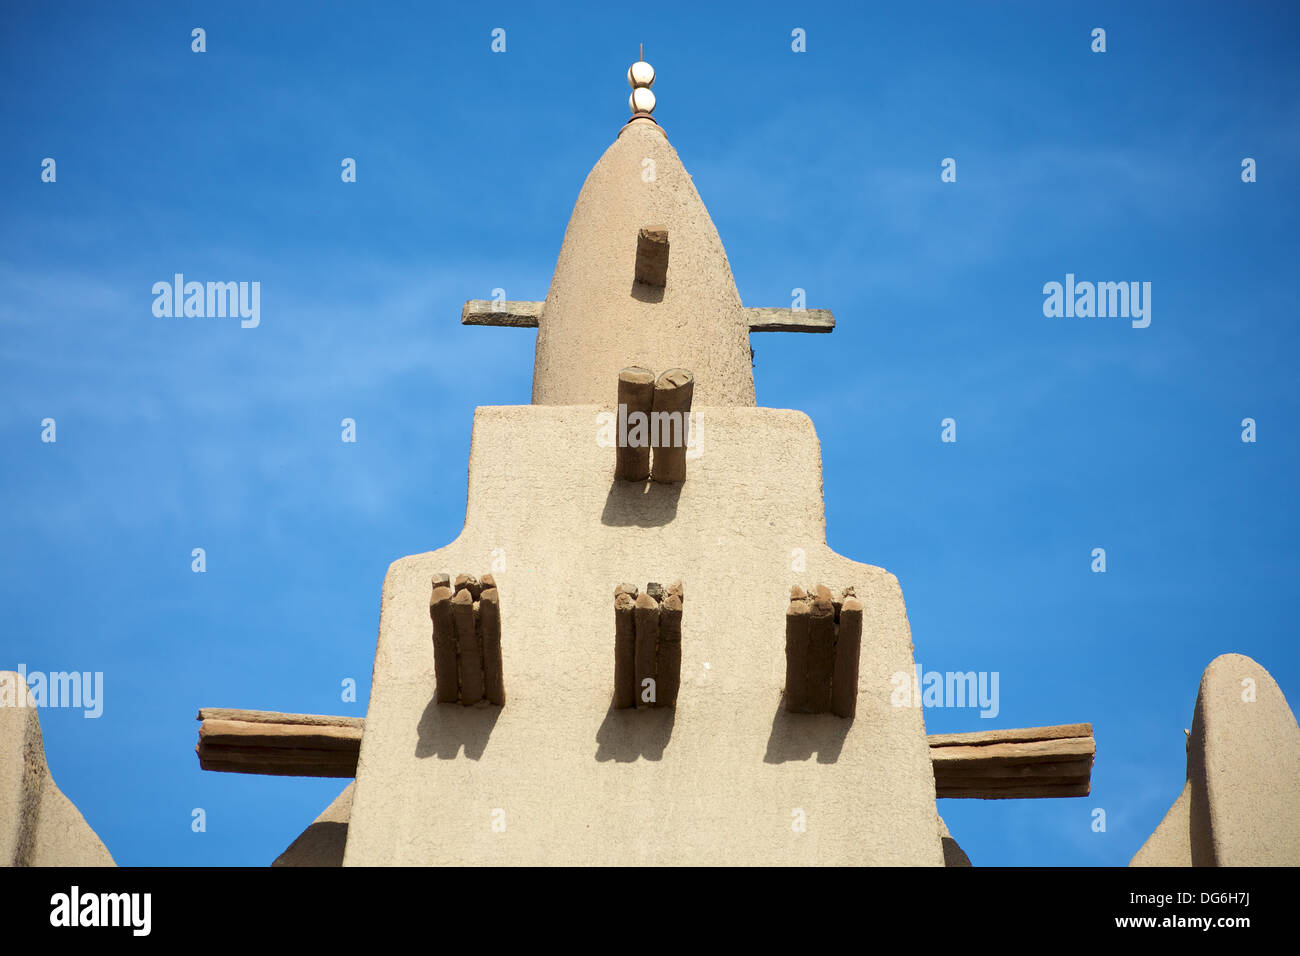
[[[384,583],[346,865],[942,865],[922,711],[889,704],[913,669],[902,593],[826,546],[811,421],[698,408],[701,457],[656,485],[615,481],[607,410],[477,410],[464,531]],[[495,549],[510,698],[434,704],[430,578]],[[615,710],[614,587],[677,579],[677,706]],[[789,587],[809,580],[866,605],[852,722],[781,706]]]

